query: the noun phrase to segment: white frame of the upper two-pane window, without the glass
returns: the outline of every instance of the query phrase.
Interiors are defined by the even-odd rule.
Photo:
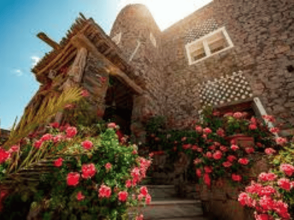
[[[207,39],[210,38],[210,37],[213,37],[214,35],[217,35],[220,32],[222,32],[228,46],[221,49],[221,50],[219,50],[219,51],[211,53],[211,51],[209,49],[209,46],[208,46],[208,43],[207,43]],[[194,51],[190,51],[190,47],[195,45],[195,44],[202,44],[203,47],[201,47],[201,48],[203,48],[204,51],[205,51],[205,57],[202,57],[202,58],[200,58],[200,59],[198,59],[196,61],[193,61],[192,57],[191,57],[191,53],[193,53]],[[210,56],[213,56],[215,54],[221,53],[222,51],[230,49],[233,46],[234,46],[234,44],[233,44],[232,40],[230,39],[225,27],[221,27],[221,28],[219,28],[219,29],[217,29],[217,30],[215,30],[215,31],[213,31],[213,32],[211,32],[211,33],[209,33],[209,34],[207,34],[207,35],[205,35],[205,36],[203,36],[203,37],[201,37],[201,38],[199,38],[199,39],[185,45],[189,65],[196,64],[196,63],[198,63],[198,62],[200,62],[200,61],[202,61],[202,60],[204,60],[204,59],[206,59],[206,58],[208,58]]]

